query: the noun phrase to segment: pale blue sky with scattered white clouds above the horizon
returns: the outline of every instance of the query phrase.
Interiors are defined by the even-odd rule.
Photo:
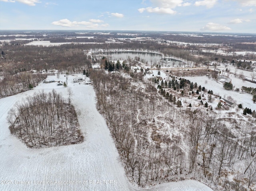
[[[256,33],[256,0],[0,0],[0,29]]]

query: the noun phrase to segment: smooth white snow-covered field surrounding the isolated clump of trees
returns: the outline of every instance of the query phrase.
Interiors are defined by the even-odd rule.
[[[72,103],[80,113],[78,120],[85,137],[82,144],[29,149],[8,129],[8,110],[18,100],[38,91],[49,92],[52,89],[67,98],[67,88],[57,86],[57,83],[40,83],[30,91],[0,99],[1,191],[212,191],[194,180],[164,183],[146,189],[132,185],[118,159],[106,122],[96,109],[93,87],[73,83],[74,77],[77,76],[68,76],[68,87],[74,92]],[[62,75],[55,80],[65,81],[65,77]]]

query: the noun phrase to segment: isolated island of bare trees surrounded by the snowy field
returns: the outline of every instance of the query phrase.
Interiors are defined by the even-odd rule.
[[[28,147],[40,148],[83,142],[74,106],[52,92],[28,96],[8,112],[10,131]]]

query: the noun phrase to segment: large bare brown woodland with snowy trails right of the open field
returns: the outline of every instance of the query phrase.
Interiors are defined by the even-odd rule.
[[[252,122],[234,123],[242,129],[238,131],[241,135],[235,135],[232,124],[226,124],[214,111],[178,108],[157,94],[151,81],[98,72],[91,78],[98,109],[106,118],[131,181],[143,187],[196,174],[223,186],[226,169],[238,174],[240,168],[244,171],[240,188],[255,183]],[[166,134],[170,128],[177,129],[179,135]],[[230,187],[236,183],[230,182]]]

